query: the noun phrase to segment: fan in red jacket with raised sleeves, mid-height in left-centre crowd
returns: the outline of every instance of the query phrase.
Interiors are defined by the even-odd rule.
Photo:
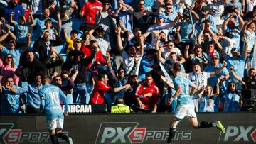
[[[95,53],[95,58],[92,60],[92,62],[87,65],[86,69],[89,70],[96,70],[97,65],[100,63],[100,65],[106,65],[105,57],[102,55],[102,52],[99,50],[99,46],[97,45],[96,40],[91,40],[89,47],[82,45],[81,52],[85,57],[90,57],[92,54],[93,48],[97,48],[98,51]]]

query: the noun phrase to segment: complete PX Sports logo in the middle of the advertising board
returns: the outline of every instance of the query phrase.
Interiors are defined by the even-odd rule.
[[[137,122],[103,122],[95,143],[143,143],[147,140],[166,140],[169,131],[149,131],[138,128]],[[191,140],[192,131],[176,131],[174,140]]]

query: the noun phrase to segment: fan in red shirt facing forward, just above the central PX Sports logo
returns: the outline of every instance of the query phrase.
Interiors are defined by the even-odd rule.
[[[159,101],[159,89],[156,87],[151,74],[146,74],[144,84],[139,84],[135,92],[136,101],[139,107],[146,110],[152,110],[156,113],[157,103]]]

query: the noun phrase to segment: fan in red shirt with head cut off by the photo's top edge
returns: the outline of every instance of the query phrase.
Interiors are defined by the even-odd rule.
[[[80,16],[85,15],[85,23],[96,24],[95,17],[97,11],[102,11],[102,3],[98,0],[87,1],[80,11]]]

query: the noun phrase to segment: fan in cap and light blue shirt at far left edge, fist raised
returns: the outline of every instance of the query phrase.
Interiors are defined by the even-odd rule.
[[[16,41],[13,38],[10,38],[6,41],[7,41],[7,48],[4,47],[4,45],[0,44],[1,55],[4,58],[4,55],[10,54],[13,57],[14,65],[16,65],[18,67],[18,65],[20,63],[21,53],[25,52],[28,49],[28,47],[30,46],[31,34],[30,33],[27,34],[27,43],[26,43],[26,45],[23,45],[21,48],[16,48]]]

